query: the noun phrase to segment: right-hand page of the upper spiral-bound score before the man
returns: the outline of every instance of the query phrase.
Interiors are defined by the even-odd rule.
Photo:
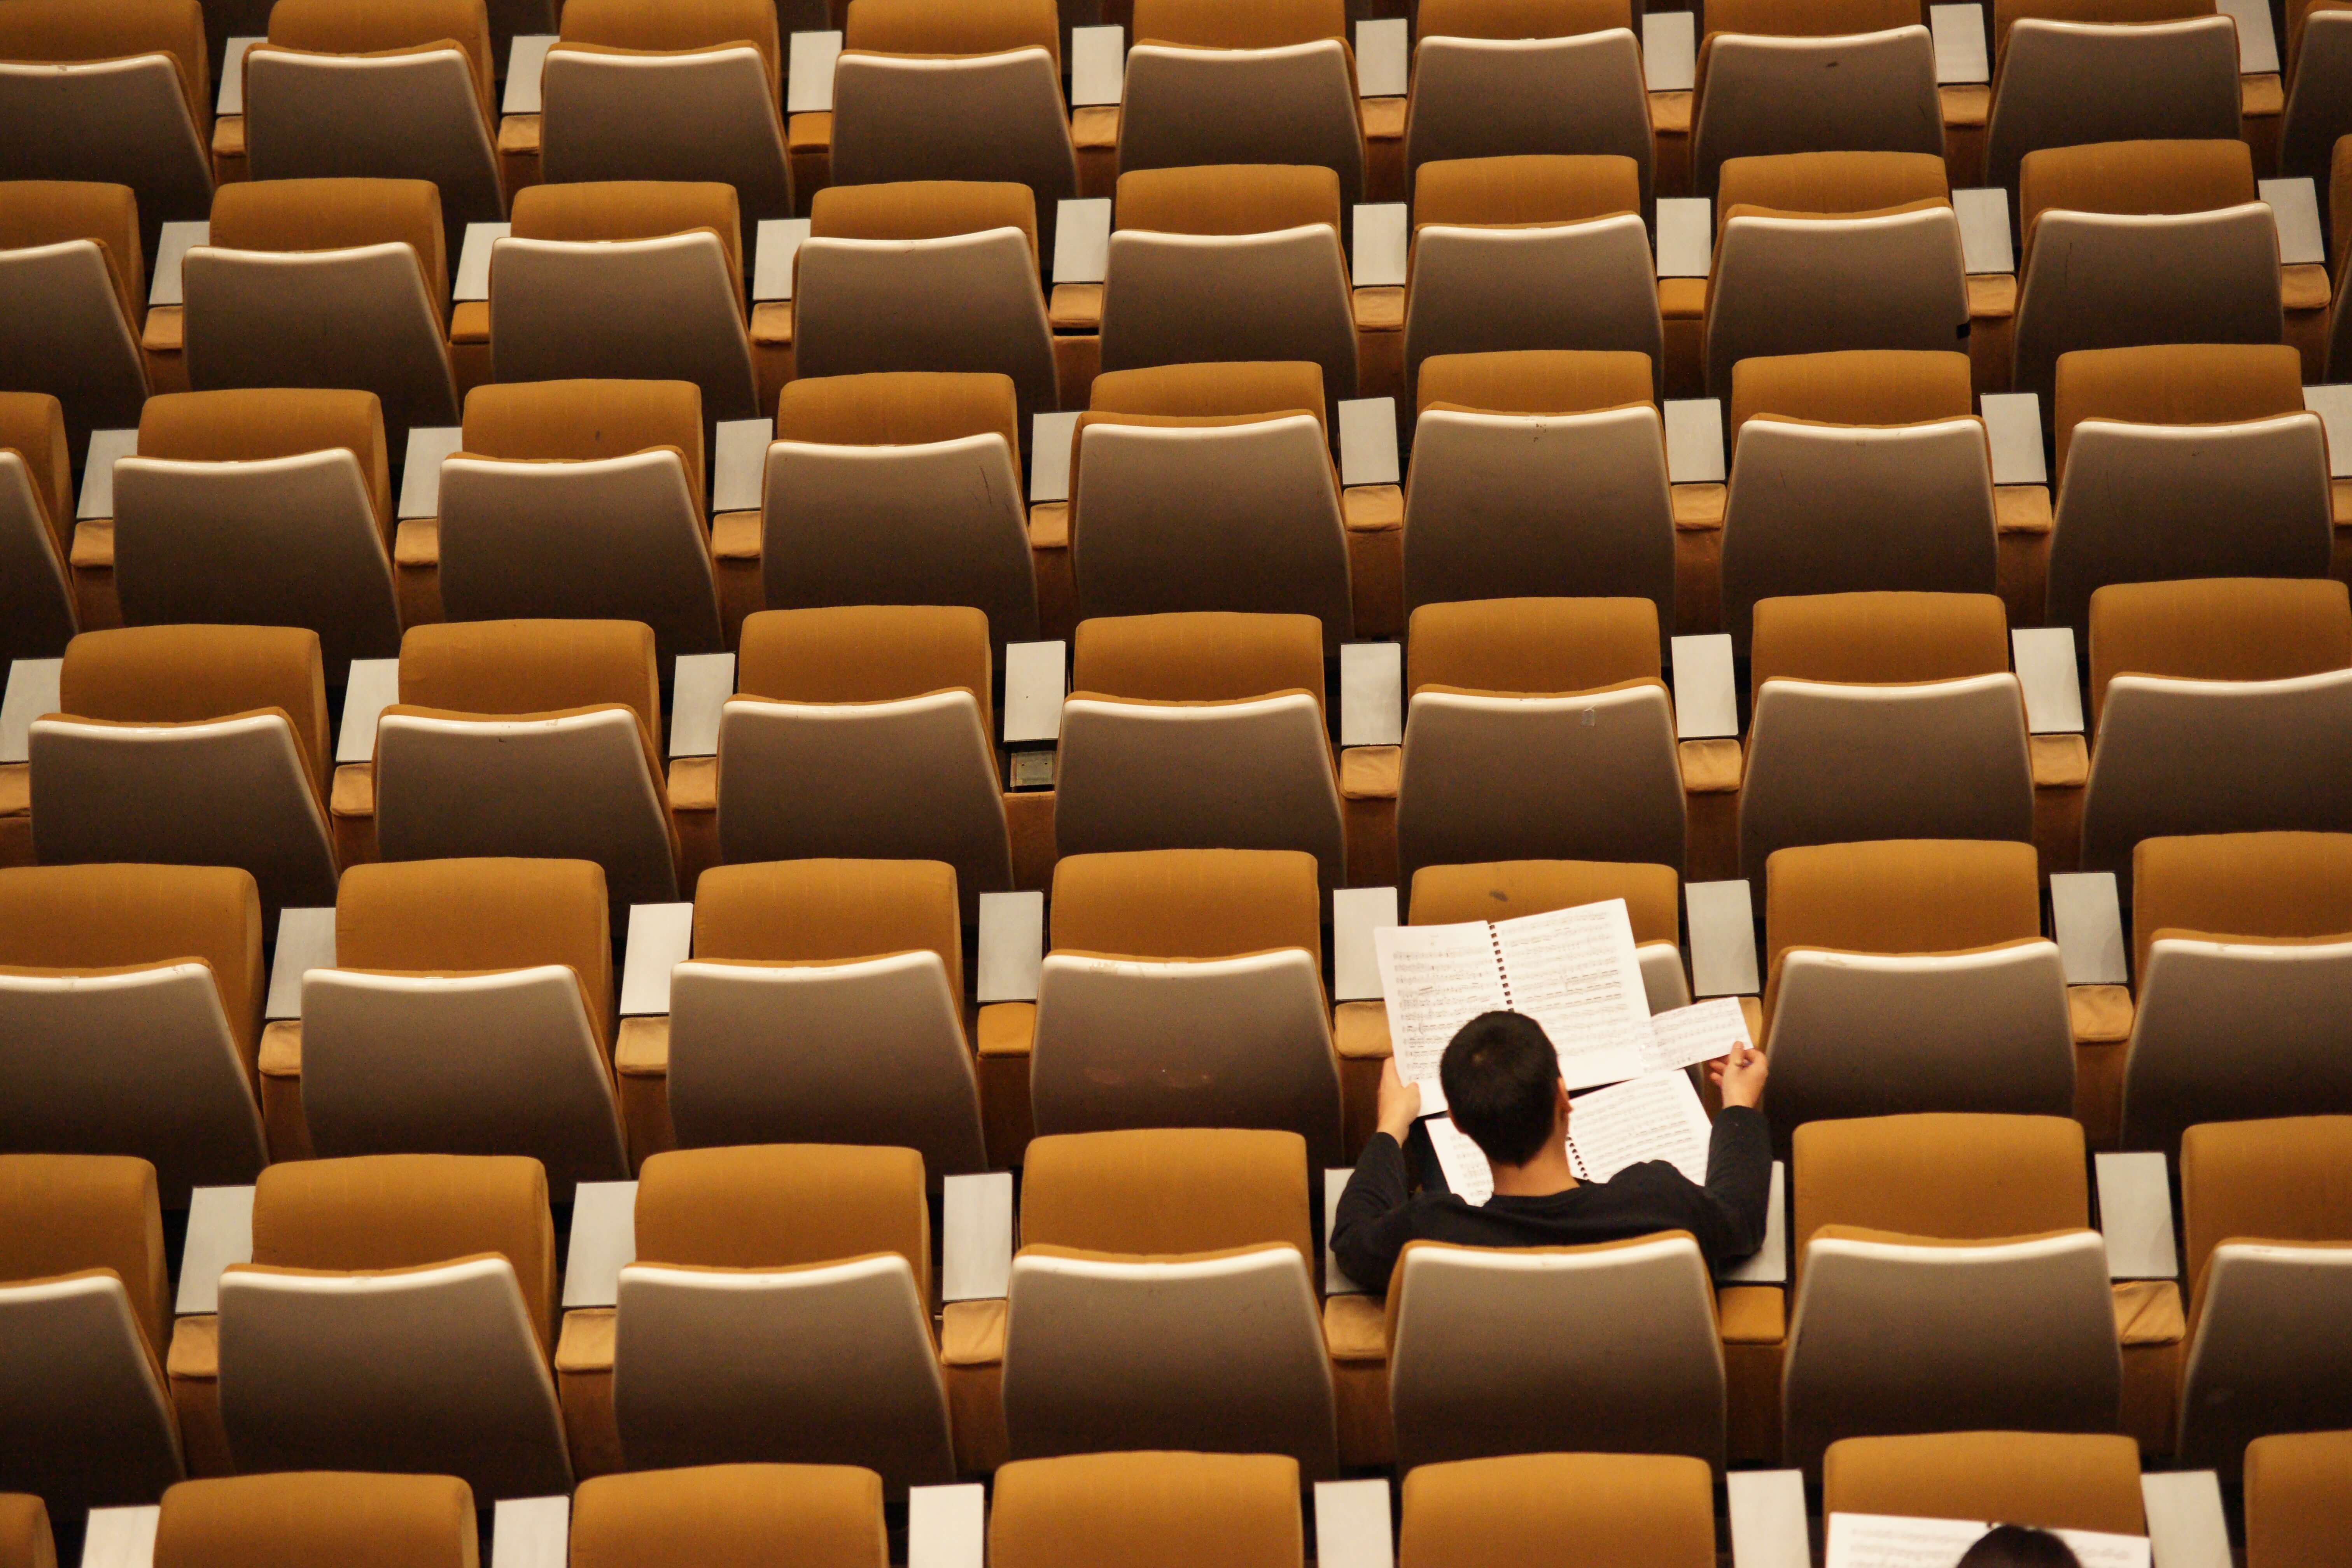
[[[1569,1088],[1642,1072],[1649,992],[1625,900],[1522,914],[1494,924],[1510,1006],[1543,1025]]]

